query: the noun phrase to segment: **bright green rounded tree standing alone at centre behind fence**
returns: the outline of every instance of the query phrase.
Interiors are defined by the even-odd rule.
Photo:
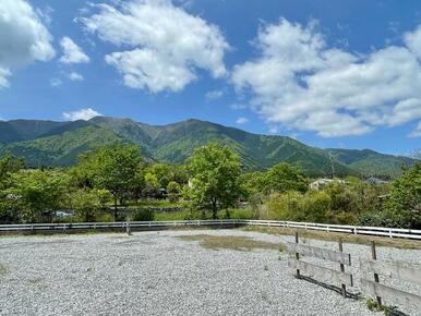
[[[236,205],[242,193],[240,158],[228,147],[217,143],[197,148],[187,165],[191,177],[188,195],[193,206],[217,210]]]

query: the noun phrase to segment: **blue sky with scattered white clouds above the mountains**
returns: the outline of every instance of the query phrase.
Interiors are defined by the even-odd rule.
[[[0,0],[0,118],[196,118],[405,155],[420,25],[416,0]]]

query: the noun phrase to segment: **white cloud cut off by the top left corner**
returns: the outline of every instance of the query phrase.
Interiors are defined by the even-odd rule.
[[[48,61],[56,52],[41,16],[27,1],[0,2],[0,88],[4,88],[13,70]]]

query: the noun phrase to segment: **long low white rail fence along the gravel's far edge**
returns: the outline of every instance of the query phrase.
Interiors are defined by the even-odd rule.
[[[170,227],[285,227],[299,228],[306,230],[320,230],[326,232],[342,232],[352,234],[377,235],[388,238],[405,238],[421,240],[421,230],[384,228],[384,227],[360,227],[326,224],[314,222],[277,221],[277,220],[243,220],[243,219],[221,219],[221,220],[176,220],[176,221],[132,221],[132,222],[75,222],[75,223],[34,223],[34,224],[0,224],[1,231],[65,231],[73,229],[125,229],[131,228],[156,228],[164,229]]]

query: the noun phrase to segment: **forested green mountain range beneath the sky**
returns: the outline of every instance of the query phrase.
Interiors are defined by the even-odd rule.
[[[31,167],[75,163],[77,156],[116,142],[140,146],[148,160],[181,163],[197,146],[216,141],[240,155],[246,170],[264,170],[285,161],[309,175],[386,175],[396,178],[416,160],[374,150],[321,149],[293,138],[258,135],[220,124],[187,120],[149,125],[130,119],[96,117],[88,121],[13,120],[0,122],[0,156],[24,157]]]

